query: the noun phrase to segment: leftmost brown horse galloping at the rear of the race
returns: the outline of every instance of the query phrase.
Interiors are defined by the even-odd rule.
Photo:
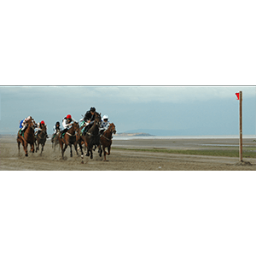
[[[27,145],[30,144],[31,152],[35,152],[35,137],[34,137],[34,128],[36,126],[35,121],[33,119],[29,119],[26,121],[27,127],[26,131],[24,131],[24,136],[20,135],[20,132],[18,132],[17,136],[17,143],[18,143],[18,149],[20,154],[20,143],[22,143],[22,146],[25,151],[25,155],[27,156]]]

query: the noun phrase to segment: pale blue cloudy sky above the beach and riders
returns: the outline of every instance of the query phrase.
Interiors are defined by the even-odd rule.
[[[71,114],[79,121],[90,107],[108,114],[118,133],[153,135],[239,134],[239,101],[243,93],[243,134],[256,134],[256,86],[0,86],[0,134],[17,133],[19,121],[31,115],[44,120],[48,133]]]

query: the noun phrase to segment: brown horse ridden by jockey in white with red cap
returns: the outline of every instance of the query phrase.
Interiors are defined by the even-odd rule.
[[[61,155],[62,155],[62,159],[64,159],[64,152],[67,149],[67,146],[70,147],[70,157],[73,157],[73,153],[72,153],[72,145],[74,146],[77,154],[78,153],[78,149],[77,149],[77,132],[79,132],[79,123],[78,122],[73,122],[73,125],[71,126],[71,128],[65,133],[64,137],[61,138],[61,133],[58,136],[58,140],[61,146]],[[65,148],[63,148],[63,145],[65,144]]]

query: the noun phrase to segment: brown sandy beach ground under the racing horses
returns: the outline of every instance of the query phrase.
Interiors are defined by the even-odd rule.
[[[255,146],[253,139],[243,140],[243,143],[244,147]],[[103,157],[100,158],[95,151],[93,160],[84,156],[84,163],[82,163],[81,157],[77,156],[74,148],[72,158],[67,148],[65,159],[61,160],[61,150],[56,148],[54,151],[50,140],[47,141],[42,155],[29,152],[26,157],[22,145],[20,145],[20,154],[18,153],[16,137],[5,136],[0,137],[0,171],[256,171],[256,152],[255,158],[245,159],[252,166],[236,166],[239,159],[234,157],[164,154],[119,149],[207,149],[211,147],[210,145],[238,145],[238,141],[237,139],[113,139],[115,149],[107,155],[107,162],[104,162]],[[221,146],[216,148],[225,150]]]

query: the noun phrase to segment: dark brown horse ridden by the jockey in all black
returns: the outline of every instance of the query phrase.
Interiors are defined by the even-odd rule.
[[[99,128],[100,125],[102,124],[102,117],[101,114],[96,113],[96,118],[93,121],[93,125],[90,127],[90,129],[86,132],[85,136],[80,136],[80,131],[84,128],[84,125],[80,127],[79,129],[79,136],[78,136],[78,141],[79,141],[79,147],[81,150],[81,157],[82,159],[84,158],[83,156],[83,149],[82,149],[82,143],[84,143],[85,147],[87,148],[87,154],[86,156],[90,156],[90,159],[93,159],[93,154],[92,154],[92,148],[94,145],[100,146],[100,134],[99,134]],[[100,157],[102,157],[102,151],[100,150],[99,152]]]

